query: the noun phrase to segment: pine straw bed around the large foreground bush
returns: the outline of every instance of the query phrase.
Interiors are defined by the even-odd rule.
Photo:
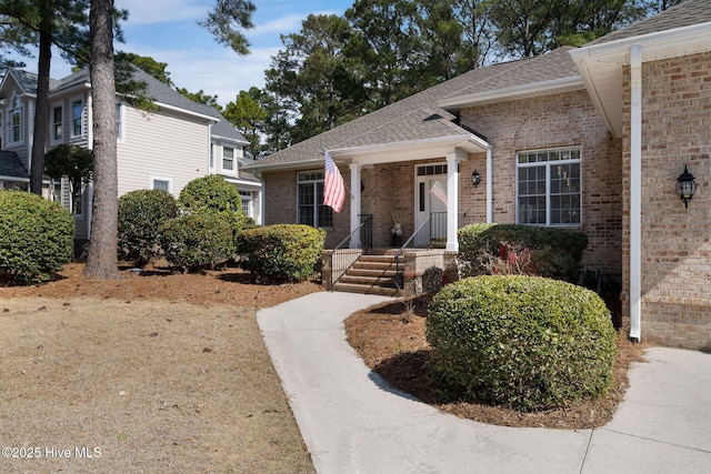
[[[582,400],[575,405],[533,413],[482,403],[439,403],[437,389],[428,381],[431,349],[425,340],[427,297],[385,303],[360,311],[346,321],[349,343],[365,364],[391,385],[441,411],[463,418],[503,426],[581,430],[603,426],[629,386],[628,369],[642,362],[645,345],[628,341],[618,329],[618,354],[612,387],[597,400]],[[609,299],[613,316],[619,321],[614,299]]]

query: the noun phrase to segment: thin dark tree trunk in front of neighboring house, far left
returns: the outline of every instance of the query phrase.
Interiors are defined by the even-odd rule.
[[[52,60],[52,0],[43,0],[40,7],[40,51],[37,73],[37,100],[34,109],[34,135],[30,164],[30,192],[42,195],[47,128],[49,124],[49,70]]]

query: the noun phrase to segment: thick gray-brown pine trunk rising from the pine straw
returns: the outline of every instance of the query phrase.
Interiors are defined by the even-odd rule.
[[[113,280],[119,278],[113,0],[91,0],[89,28],[93,98],[94,190],[91,245],[84,276]]]

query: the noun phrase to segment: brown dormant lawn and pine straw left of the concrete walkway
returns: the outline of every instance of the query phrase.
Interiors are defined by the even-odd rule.
[[[317,283],[82,269],[0,288],[0,472],[313,472],[254,315]]]

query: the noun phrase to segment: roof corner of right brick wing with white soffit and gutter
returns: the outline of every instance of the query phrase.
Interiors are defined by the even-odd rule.
[[[654,17],[571,50],[608,129],[622,137],[623,70],[640,62],[711,51],[711,1],[687,0]]]

